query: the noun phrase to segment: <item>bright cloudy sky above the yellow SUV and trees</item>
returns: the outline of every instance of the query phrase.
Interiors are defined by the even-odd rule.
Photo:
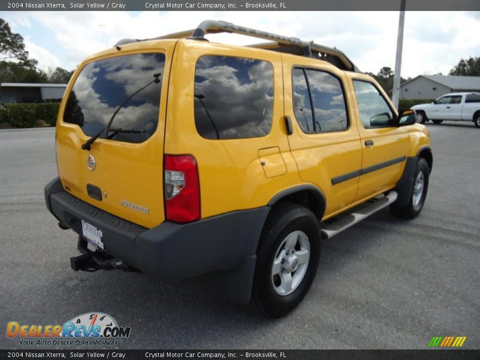
[[[212,18],[315,40],[344,51],[362,71],[394,67],[397,11],[3,11],[0,16],[25,38],[43,70],[75,68],[86,56],[118,39],[154,37],[195,27]],[[408,11],[403,77],[448,70],[461,57],[480,55],[480,13]],[[210,35],[211,41],[249,44],[251,38]]]

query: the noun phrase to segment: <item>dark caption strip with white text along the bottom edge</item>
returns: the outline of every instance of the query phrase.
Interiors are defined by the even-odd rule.
[[[0,359],[477,360],[480,350],[0,350]]]

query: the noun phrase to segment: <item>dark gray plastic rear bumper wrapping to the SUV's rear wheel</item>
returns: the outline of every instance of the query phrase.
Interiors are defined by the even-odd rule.
[[[100,229],[105,251],[133,267],[166,280],[222,271],[225,291],[233,291],[228,297],[240,303],[250,299],[268,206],[187,224],[165,221],[148,229],[74,197],[63,190],[59,178],[45,186],[45,201],[50,212],[78,234],[81,220]]]

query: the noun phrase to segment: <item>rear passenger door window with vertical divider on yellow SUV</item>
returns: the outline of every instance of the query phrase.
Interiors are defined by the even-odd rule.
[[[294,68],[293,112],[305,133],[341,131],[348,127],[340,80],[332,74]]]

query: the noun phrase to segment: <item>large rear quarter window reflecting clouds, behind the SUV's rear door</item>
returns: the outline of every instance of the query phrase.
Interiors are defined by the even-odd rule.
[[[271,63],[206,55],[195,66],[195,126],[208,139],[265,136],[273,113]]]

